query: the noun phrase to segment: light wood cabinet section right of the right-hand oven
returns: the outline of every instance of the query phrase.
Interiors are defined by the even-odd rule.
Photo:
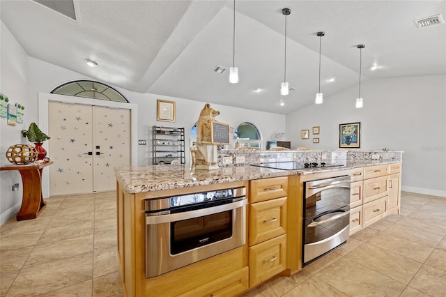
[[[399,214],[401,163],[355,168],[351,172],[350,234]]]

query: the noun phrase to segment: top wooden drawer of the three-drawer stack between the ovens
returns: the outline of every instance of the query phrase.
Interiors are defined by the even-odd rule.
[[[288,177],[256,179],[251,181],[249,191],[249,201],[251,203],[286,197],[288,192]]]

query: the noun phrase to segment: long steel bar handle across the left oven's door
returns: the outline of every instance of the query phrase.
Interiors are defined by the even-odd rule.
[[[214,213],[222,213],[231,211],[232,209],[244,207],[248,203],[247,199],[243,199],[229,204],[222,204],[208,208],[200,208],[194,211],[185,211],[183,213],[170,213],[168,215],[146,215],[146,224],[162,224],[166,222],[176,222],[180,220],[188,220],[203,217],[205,215],[213,215]]]

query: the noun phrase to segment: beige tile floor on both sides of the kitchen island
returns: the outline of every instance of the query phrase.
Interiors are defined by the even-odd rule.
[[[0,227],[0,296],[123,296],[114,192],[46,201]],[[401,215],[243,296],[446,296],[446,198],[403,192]]]

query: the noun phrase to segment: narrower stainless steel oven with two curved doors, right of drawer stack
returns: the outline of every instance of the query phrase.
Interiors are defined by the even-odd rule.
[[[302,266],[345,243],[350,233],[350,176],[304,183]]]

